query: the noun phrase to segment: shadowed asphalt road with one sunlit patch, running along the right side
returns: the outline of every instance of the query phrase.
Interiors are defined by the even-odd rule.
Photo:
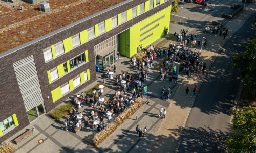
[[[230,109],[236,105],[240,84],[231,58],[233,53],[242,53],[254,36],[255,15],[232,36],[212,64],[188,116],[178,152],[226,152]]]

